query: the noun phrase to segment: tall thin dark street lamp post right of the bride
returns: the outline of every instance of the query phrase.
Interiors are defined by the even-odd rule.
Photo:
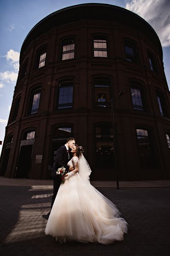
[[[115,160],[115,168],[116,168],[116,185],[117,189],[119,189],[119,175],[118,175],[118,161],[117,161],[117,148],[116,148],[116,133],[115,133],[115,125],[114,125],[114,111],[113,111],[113,102],[121,97],[125,93],[125,89],[119,92],[119,95],[113,99],[111,92],[111,114],[112,114],[112,128],[113,128],[113,148],[114,148],[114,160]]]

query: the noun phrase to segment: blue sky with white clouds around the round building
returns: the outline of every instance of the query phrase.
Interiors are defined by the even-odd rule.
[[[155,29],[163,47],[170,89],[170,0],[0,0],[0,140],[11,109],[20,49],[28,32],[47,15],[81,3],[108,3],[135,12]],[[0,145],[0,154],[2,145]]]

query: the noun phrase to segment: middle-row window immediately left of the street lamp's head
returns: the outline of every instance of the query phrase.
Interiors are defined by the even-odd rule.
[[[95,88],[95,107],[106,108],[110,107],[110,81],[105,78],[94,79]]]

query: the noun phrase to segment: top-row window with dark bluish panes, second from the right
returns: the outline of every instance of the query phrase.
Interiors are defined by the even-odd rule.
[[[127,61],[137,62],[137,49],[134,41],[125,40],[125,57]]]

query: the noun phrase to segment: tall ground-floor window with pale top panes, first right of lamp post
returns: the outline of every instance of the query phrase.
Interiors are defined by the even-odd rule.
[[[144,129],[136,129],[138,147],[139,147],[139,164],[142,168],[154,166],[153,149],[150,143],[149,132]]]

